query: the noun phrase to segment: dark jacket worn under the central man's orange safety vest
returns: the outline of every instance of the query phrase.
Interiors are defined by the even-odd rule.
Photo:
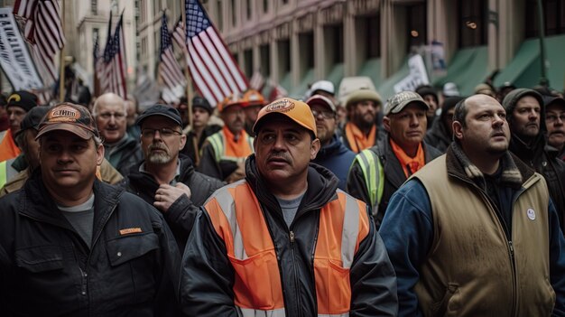
[[[308,190],[289,228],[282,210],[255,166],[255,154],[245,162],[245,180],[255,193],[269,227],[280,270],[286,316],[315,316],[317,312],[313,255],[319,230],[320,208],[337,199],[337,178],[310,164]],[[291,243],[290,230],[295,233]],[[360,241],[350,269],[350,316],[394,315],[394,270],[383,244],[369,221],[369,234]],[[268,277],[267,277],[268,278]],[[194,316],[236,316],[234,268],[227,248],[202,210],[190,234],[181,269],[181,305]]]

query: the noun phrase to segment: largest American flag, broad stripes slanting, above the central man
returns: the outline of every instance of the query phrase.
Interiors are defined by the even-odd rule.
[[[186,0],[186,42],[189,70],[210,105],[247,89],[245,76],[198,0]]]

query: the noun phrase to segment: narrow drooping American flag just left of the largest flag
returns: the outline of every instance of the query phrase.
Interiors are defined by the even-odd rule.
[[[182,74],[181,66],[172,51],[171,34],[167,27],[167,15],[164,12],[162,13],[161,22],[161,64],[159,65],[159,74],[167,92],[163,94],[165,101],[178,101],[182,96],[186,80],[184,79],[184,74]]]

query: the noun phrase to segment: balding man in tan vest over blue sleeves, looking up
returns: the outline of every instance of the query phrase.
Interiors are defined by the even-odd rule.
[[[504,107],[471,96],[452,126],[384,215],[399,316],[563,315],[565,239],[543,176],[508,151]]]

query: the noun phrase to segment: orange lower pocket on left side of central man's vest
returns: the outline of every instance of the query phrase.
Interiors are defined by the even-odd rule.
[[[228,256],[234,270],[235,303],[244,308],[273,310],[282,308],[281,275],[274,250],[267,250],[245,260]]]

